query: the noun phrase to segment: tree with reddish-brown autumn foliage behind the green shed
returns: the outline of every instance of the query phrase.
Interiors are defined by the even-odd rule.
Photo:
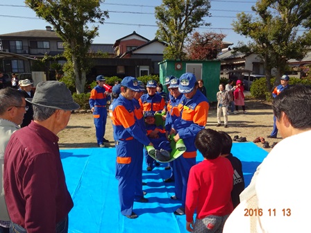
[[[217,58],[217,54],[224,49],[222,40],[226,35],[221,33],[198,33],[195,32],[188,39],[185,51],[190,60],[212,60]]]

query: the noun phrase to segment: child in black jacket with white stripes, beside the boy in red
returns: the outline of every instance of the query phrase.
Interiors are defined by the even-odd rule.
[[[245,187],[244,175],[242,171],[242,162],[231,153],[232,139],[226,132],[219,132],[221,136],[221,157],[229,159],[233,166],[233,189],[231,191],[231,199],[233,208],[239,205],[239,194],[242,193]]]

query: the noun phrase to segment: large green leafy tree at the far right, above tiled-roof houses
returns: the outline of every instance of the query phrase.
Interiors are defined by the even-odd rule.
[[[257,17],[237,14],[233,30],[253,40],[249,46],[264,60],[269,91],[271,69],[276,67],[277,84],[287,60],[301,60],[311,45],[311,1],[258,0],[252,10]],[[301,30],[305,31],[299,33]]]

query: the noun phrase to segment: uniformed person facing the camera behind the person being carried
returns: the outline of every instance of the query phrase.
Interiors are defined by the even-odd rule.
[[[153,111],[153,112],[162,112],[162,110],[165,108],[165,100],[160,96],[160,94],[157,94],[157,82],[155,80],[149,80],[146,85],[147,93],[143,94],[142,97],[140,97],[140,106],[142,107],[142,110],[144,112],[146,111]],[[151,137],[152,137],[151,133]],[[152,157],[148,155],[148,153],[145,151],[144,153],[145,162],[147,165],[147,171],[152,171],[153,169],[153,163],[155,163],[156,166],[159,166],[160,164],[155,161]]]

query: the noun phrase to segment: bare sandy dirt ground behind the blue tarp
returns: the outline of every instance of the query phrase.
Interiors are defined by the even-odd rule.
[[[239,114],[230,114],[228,116],[228,128],[224,128],[223,125],[216,127],[216,108],[211,107],[206,128],[222,130],[227,132],[232,138],[235,135],[246,137],[247,141],[253,141],[256,137],[264,137],[266,141],[269,141],[270,145],[275,141],[278,142],[281,140],[280,135],[278,135],[277,139],[267,138],[267,135],[270,135],[273,128],[273,111],[271,105],[249,98],[245,100],[245,106],[247,114],[242,114],[240,110]],[[223,117],[221,117],[221,122],[224,122]],[[67,128],[62,130],[58,134],[58,137],[60,137],[59,145],[62,149],[97,147],[92,114],[72,114]],[[105,138],[111,141],[110,146],[114,146],[112,142],[112,123],[109,116],[106,124]],[[262,148],[261,143],[257,143],[257,145]],[[270,151],[271,148],[264,150]]]

